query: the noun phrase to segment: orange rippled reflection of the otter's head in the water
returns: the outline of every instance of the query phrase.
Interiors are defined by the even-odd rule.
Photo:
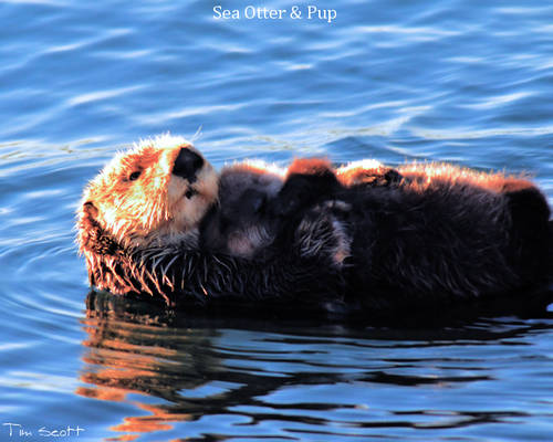
[[[149,311],[149,312],[148,312]],[[154,312],[152,312],[154,311]],[[170,430],[171,422],[197,419],[202,400],[185,399],[180,391],[194,390],[215,380],[223,369],[212,348],[218,332],[178,327],[171,314],[156,306],[127,302],[118,296],[91,292],[83,320],[88,348],[81,380],[92,385],[79,394],[107,401],[132,401],[147,415],[128,417],[116,432]],[[131,393],[147,394],[133,396]],[[165,402],[152,403],[152,398]],[[125,438],[127,439],[127,438]]]

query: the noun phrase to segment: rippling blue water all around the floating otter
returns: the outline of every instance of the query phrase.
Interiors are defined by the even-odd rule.
[[[313,3],[336,19],[0,1],[0,423],[22,425],[0,440],[67,425],[58,439],[553,440],[551,313],[414,330],[87,299],[81,190],[165,131],[201,128],[217,167],[325,155],[528,171],[553,202],[552,4]]]

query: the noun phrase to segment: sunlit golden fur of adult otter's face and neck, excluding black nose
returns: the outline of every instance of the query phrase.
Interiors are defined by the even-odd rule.
[[[77,243],[91,283],[98,288],[152,293],[148,282],[155,280],[155,269],[142,266],[138,271],[129,256],[152,249],[160,254],[170,244],[197,245],[199,221],[217,201],[218,177],[207,161],[192,183],[173,175],[184,147],[195,150],[181,137],[142,140],[118,152],[86,186],[77,211]],[[136,172],[138,178],[131,179]],[[190,189],[195,193],[186,198]],[[122,276],[122,260],[135,269],[133,281],[140,284]]]

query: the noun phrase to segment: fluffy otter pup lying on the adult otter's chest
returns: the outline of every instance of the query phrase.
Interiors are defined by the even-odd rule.
[[[270,253],[285,253],[293,241],[280,241],[294,224],[298,213],[317,201],[340,198],[345,186],[390,186],[400,181],[400,175],[376,161],[372,168],[361,169],[358,165],[338,169],[332,168],[327,159],[295,159],[284,172],[263,162],[244,162],[222,169],[219,180],[219,204],[215,206],[200,227],[200,245],[204,249],[230,255],[260,259]],[[333,201],[334,208],[344,207]],[[334,224],[334,227],[333,227]],[[331,211],[316,224],[319,234],[310,238],[325,238],[325,246],[337,249],[328,253],[345,259],[348,246],[341,244],[341,227],[333,222]],[[336,232],[333,233],[333,230]],[[293,229],[292,229],[293,230]],[[324,233],[323,233],[324,232]],[[299,245],[301,242],[295,242]],[[282,250],[281,250],[282,249]],[[305,252],[305,243],[301,245]],[[319,253],[319,249],[317,249]],[[311,252],[313,254],[313,251]]]

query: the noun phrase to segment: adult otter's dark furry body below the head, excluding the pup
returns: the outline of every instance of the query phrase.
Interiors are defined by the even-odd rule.
[[[292,303],[372,315],[501,299],[551,281],[550,209],[526,180],[424,165],[399,168],[385,186],[347,187],[325,167],[310,170],[274,197],[275,207],[296,202],[259,260],[185,243],[124,248],[84,208],[91,283],[171,306]]]

